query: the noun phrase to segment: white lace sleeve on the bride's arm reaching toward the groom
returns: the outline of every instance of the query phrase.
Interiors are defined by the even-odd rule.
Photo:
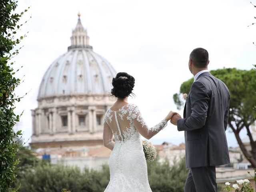
[[[154,127],[148,128],[137,106],[135,106],[132,111],[132,120],[138,132],[146,139],[152,138],[154,135],[156,135],[160,130],[162,130],[167,125],[167,121],[163,119]]]

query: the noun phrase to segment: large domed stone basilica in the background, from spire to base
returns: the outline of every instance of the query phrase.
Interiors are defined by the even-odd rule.
[[[92,50],[78,17],[71,46],[42,78],[30,145],[38,157],[50,155],[51,162],[98,168],[110,154],[105,148],[101,152],[102,134],[104,114],[115,101],[109,92],[116,70]]]

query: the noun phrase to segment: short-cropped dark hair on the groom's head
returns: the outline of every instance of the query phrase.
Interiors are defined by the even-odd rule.
[[[206,68],[208,65],[209,54],[204,48],[195,48],[189,58],[192,60],[196,68]]]

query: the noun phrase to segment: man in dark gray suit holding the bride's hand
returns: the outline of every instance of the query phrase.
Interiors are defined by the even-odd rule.
[[[188,68],[194,75],[184,108],[184,118],[171,123],[185,132],[186,167],[190,168],[185,192],[217,192],[215,166],[230,163],[226,128],[230,94],[227,86],[208,72],[208,52],[196,48]]]

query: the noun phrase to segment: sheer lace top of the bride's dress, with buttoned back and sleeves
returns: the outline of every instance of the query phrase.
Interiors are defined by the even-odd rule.
[[[150,139],[166,126],[166,120],[160,121],[152,128],[148,128],[144,122],[140,110],[134,104],[127,104],[118,110],[107,110],[104,119],[103,140],[104,145],[112,149],[114,142],[125,142],[130,140],[136,133],[144,138]],[[136,134],[139,136],[139,134]]]

